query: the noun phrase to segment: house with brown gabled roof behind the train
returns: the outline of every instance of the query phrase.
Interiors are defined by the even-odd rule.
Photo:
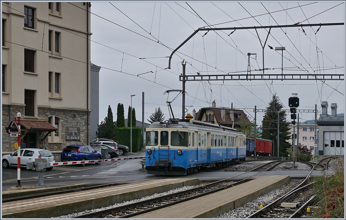
[[[244,110],[234,109],[233,107],[216,107],[215,100],[212,102],[211,107],[201,108],[197,113],[193,111],[193,120],[235,129],[239,129],[240,124],[244,122],[247,125],[252,125]]]

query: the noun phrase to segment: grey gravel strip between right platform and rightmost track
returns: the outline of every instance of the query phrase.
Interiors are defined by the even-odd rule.
[[[263,205],[263,207],[265,207],[267,204],[273,202],[275,199],[280,198],[280,196],[289,192],[302,181],[303,179],[291,179],[288,183],[285,183],[279,188],[265,195],[262,195],[251,202],[245,203],[239,208],[230,210],[229,212],[224,213],[216,218],[246,218],[250,214],[260,209],[260,205]]]

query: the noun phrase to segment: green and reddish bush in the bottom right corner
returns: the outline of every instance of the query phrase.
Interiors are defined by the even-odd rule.
[[[340,159],[335,173],[329,177],[317,176],[313,188],[317,191],[315,199],[317,212],[314,218],[344,218],[344,161]]]

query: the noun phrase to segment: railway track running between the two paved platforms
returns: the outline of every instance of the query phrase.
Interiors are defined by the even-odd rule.
[[[244,172],[242,174],[245,174],[245,173],[248,173],[251,171],[255,171],[257,169],[261,169],[265,166],[271,165],[270,167],[268,167],[264,170],[264,171],[268,171],[268,170],[274,168],[275,166],[277,166],[278,164],[280,164],[280,163],[276,163],[273,165],[273,163],[274,162],[264,164],[260,167],[256,167],[255,169]],[[264,171],[262,171],[260,173],[263,173]],[[203,186],[195,187],[193,189],[189,189],[189,190],[185,190],[185,191],[181,191],[181,192],[177,192],[177,193],[173,193],[173,194],[169,194],[169,195],[160,196],[160,197],[149,199],[149,200],[144,200],[144,201],[139,201],[139,202],[135,202],[135,203],[131,203],[131,204],[121,205],[121,206],[118,206],[115,208],[109,208],[109,209],[104,209],[101,211],[90,212],[90,213],[82,214],[82,215],[75,216],[72,218],[129,218],[129,217],[134,217],[134,216],[138,216],[139,214],[151,212],[151,211],[154,211],[157,209],[162,209],[164,207],[168,207],[168,206],[171,206],[171,205],[174,205],[177,203],[196,199],[196,198],[199,198],[201,196],[205,196],[205,195],[208,195],[211,193],[215,193],[215,192],[227,189],[229,187],[233,187],[235,185],[238,185],[238,184],[241,184],[241,183],[248,181],[250,178],[252,178],[252,177],[254,177],[260,173],[249,176],[249,177],[245,178],[244,180],[225,185],[226,180],[229,180],[230,178],[242,175],[242,174],[238,174],[238,175],[235,175],[232,177],[228,177],[224,180],[220,180],[220,181],[209,183],[209,184],[206,184]]]

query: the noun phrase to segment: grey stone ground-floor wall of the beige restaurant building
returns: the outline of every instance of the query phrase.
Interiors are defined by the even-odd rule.
[[[18,106],[2,105],[2,152],[14,152],[14,143],[17,143],[17,138],[8,137],[6,132],[6,127],[12,121],[12,111],[13,116],[17,116],[17,112],[21,112],[24,116],[24,108]],[[72,115],[76,114],[76,117]],[[45,119],[48,121],[48,117],[56,116],[61,119],[61,130],[60,137],[61,140],[48,143],[48,137],[42,141],[42,138],[47,134],[47,131],[39,132],[39,147],[46,147],[50,151],[61,151],[64,147],[71,144],[87,144],[87,132],[86,132],[86,111],[75,111],[75,110],[64,110],[64,109],[51,109],[51,108],[38,108],[37,109],[38,118]],[[90,125],[90,112],[89,112],[89,125]],[[65,127],[80,127],[80,141],[66,141],[65,140]],[[90,126],[89,126],[89,138],[90,138]],[[60,156],[59,156],[60,158]],[[60,162],[60,159],[56,161]]]

